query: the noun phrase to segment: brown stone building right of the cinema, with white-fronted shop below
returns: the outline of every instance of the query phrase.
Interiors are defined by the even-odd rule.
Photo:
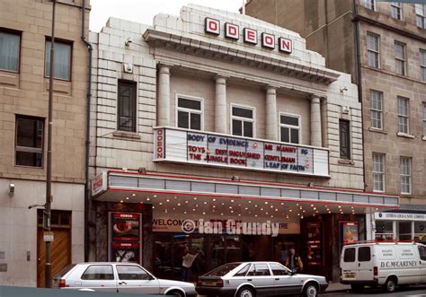
[[[372,214],[376,240],[426,241],[426,4],[251,0],[246,13],[306,38],[359,85],[365,188],[401,196]]]

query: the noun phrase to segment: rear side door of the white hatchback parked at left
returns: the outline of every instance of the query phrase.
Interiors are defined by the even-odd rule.
[[[112,265],[89,265],[72,286],[92,289],[97,292],[117,293],[117,280]],[[81,282],[78,284],[78,282]]]

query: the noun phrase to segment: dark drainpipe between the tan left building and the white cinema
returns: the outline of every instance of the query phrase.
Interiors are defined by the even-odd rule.
[[[85,31],[85,0],[83,0],[82,10],[82,35],[81,39],[87,46],[89,51],[89,72],[87,77],[87,92],[86,92],[86,124],[85,124],[85,183],[84,183],[84,262],[89,260],[89,199],[90,199],[90,179],[89,179],[89,156],[90,156],[90,104],[91,104],[91,87],[92,87],[92,45],[87,42],[84,36]]]

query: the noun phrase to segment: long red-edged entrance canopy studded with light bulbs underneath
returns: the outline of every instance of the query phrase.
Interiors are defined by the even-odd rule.
[[[397,196],[239,179],[110,170],[92,180],[93,199],[152,204],[155,213],[303,218],[399,207]]]

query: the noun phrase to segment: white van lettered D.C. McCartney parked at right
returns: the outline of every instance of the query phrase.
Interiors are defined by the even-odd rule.
[[[341,283],[360,292],[365,285],[383,285],[394,292],[397,285],[426,283],[426,246],[413,242],[371,242],[344,246]]]

